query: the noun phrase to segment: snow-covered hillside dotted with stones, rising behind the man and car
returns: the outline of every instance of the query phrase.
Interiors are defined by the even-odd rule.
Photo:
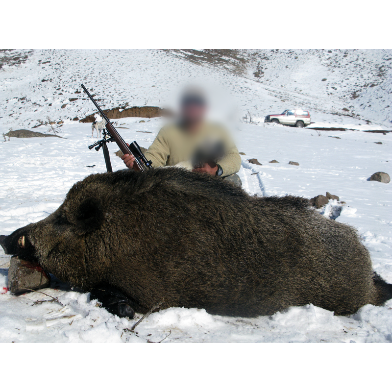
[[[271,112],[303,107],[318,125],[392,127],[392,50],[205,53],[209,52],[2,52],[0,123],[17,129],[47,123],[48,118],[55,123],[84,118],[92,108],[80,83],[102,99],[103,108],[111,109],[165,107],[178,86],[203,81],[232,96],[240,119],[249,113],[262,121]]]

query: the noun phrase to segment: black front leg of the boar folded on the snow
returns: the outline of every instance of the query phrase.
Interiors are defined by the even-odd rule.
[[[91,290],[90,300],[97,299],[108,312],[119,317],[133,319],[133,302],[120,290],[108,284],[102,284]]]

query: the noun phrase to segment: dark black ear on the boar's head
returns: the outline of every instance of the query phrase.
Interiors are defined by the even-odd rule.
[[[88,197],[77,207],[73,223],[80,234],[85,234],[98,230],[104,219],[105,213],[101,200],[97,197]]]

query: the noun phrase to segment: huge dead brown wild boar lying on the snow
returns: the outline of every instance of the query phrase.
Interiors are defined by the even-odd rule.
[[[357,232],[309,200],[249,196],[178,168],[90,175],[0,243],[119,316],[161,301],[226,316],[309,303],[349,315],[392,298]]]

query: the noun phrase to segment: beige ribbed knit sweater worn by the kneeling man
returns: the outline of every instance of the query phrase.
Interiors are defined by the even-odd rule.
[[[190,134],[176,124],[165,125],[156,136],[152,145],[145,152],[152,166],[175,166],[191,159],[193,152],[207,137],[223,142],[225,155],[218,162],[223,169],[223,176],[236,173],[241,167],[241,157],[228,132],[215,123],[204,123],[195,134]]]

